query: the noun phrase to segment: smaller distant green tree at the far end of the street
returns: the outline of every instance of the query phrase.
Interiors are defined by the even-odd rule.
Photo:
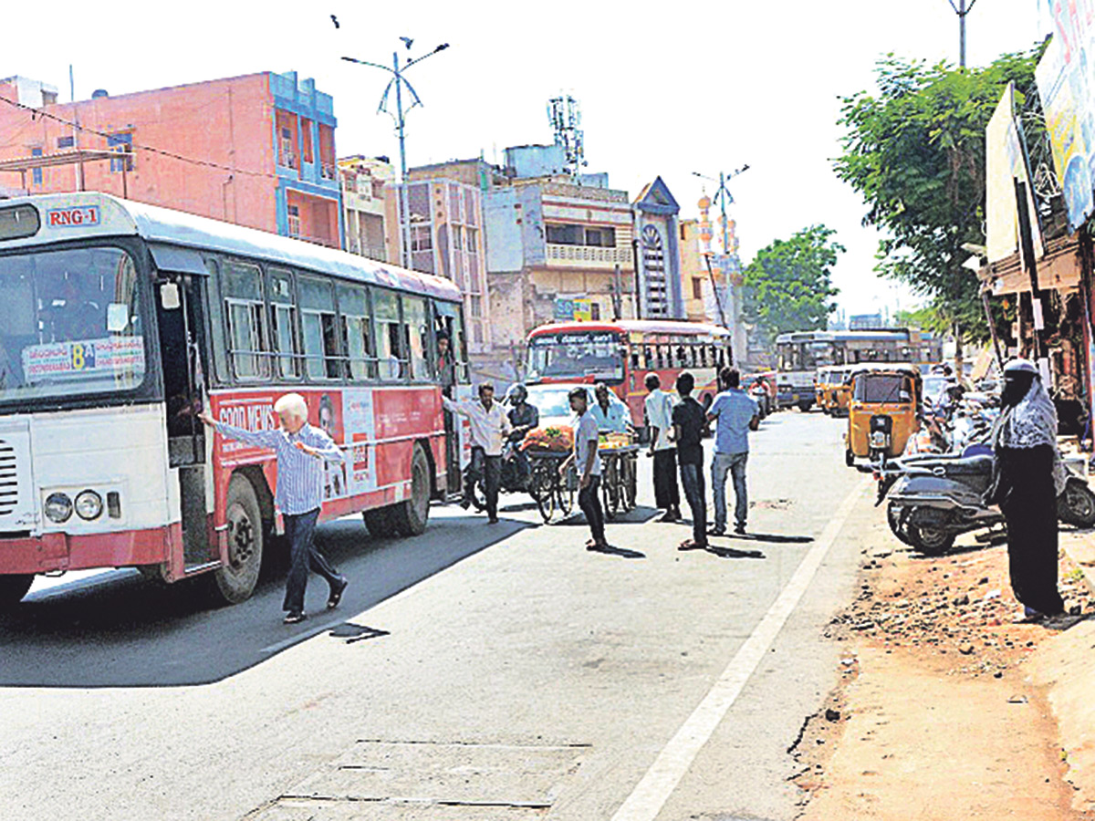
[[[746,320],[770,343],[789,331],[823,329],[837,310],[829,269],[844,246],[831,239],[834,233],[825,226],[805,228],[761,248],[742,271]]]

